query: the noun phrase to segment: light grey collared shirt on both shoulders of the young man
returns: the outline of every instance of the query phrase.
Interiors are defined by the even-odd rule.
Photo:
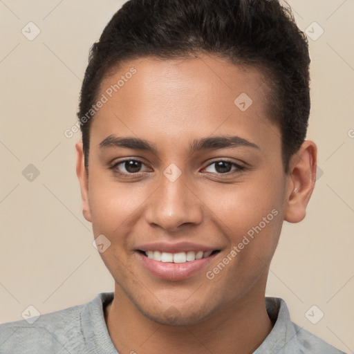
[[[1,354],[119,354],[104,321],[104,308],[113,292],[101,292],[86,304],[0,324]],[[344,353],[290,320],[283,299],[266,297],[265,304],[274,327],[254,354]],[[135,351],[139,353],[139,348]]]

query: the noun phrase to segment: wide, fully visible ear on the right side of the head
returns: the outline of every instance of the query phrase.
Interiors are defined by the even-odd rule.
[[[284,220],[299,223],[306,216],[306,207],[316,181],[317,146],[306,140],[289,162]]]

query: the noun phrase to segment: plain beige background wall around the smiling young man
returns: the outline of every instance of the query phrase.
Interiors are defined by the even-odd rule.
[[[88,49],[123,2],[0,1],[0,322],[21,319],[29,305],[47,313],[113,291],[82,216],[80,133],[68,139],[64,130],[76,121]],[[324,30],[309,39],[308,138],[320,170],[306,219],[283,226],[267,295],[285,299],[301,327],[354,353],[354,1],[289,3],[301,30],[318,35],[314,21]],[[30,21],[41,31],[32,41],[21,33]],[[29,164],[40,172],[32,182],[22,174]],[[324,313],[317,324],[305,316],[313,305]]]

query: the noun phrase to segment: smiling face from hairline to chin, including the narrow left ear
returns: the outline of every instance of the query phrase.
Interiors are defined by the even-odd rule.
[[[136,59],[102,82],[88,181],[77,145],[84,216],[116,291],[156,322],[264,295],[294,187],[264,88],[256,69],[211,56]]]

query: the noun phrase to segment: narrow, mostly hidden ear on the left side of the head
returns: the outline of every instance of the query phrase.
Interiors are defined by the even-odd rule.
[[[76,143],[76,174],[79,178],[81,198],[82,198],[82,214],[87,221],[91,222],[91,210],[88,203],[88,177],[86,176],[86,168],[84,165],[84,149],[82,141]]]

